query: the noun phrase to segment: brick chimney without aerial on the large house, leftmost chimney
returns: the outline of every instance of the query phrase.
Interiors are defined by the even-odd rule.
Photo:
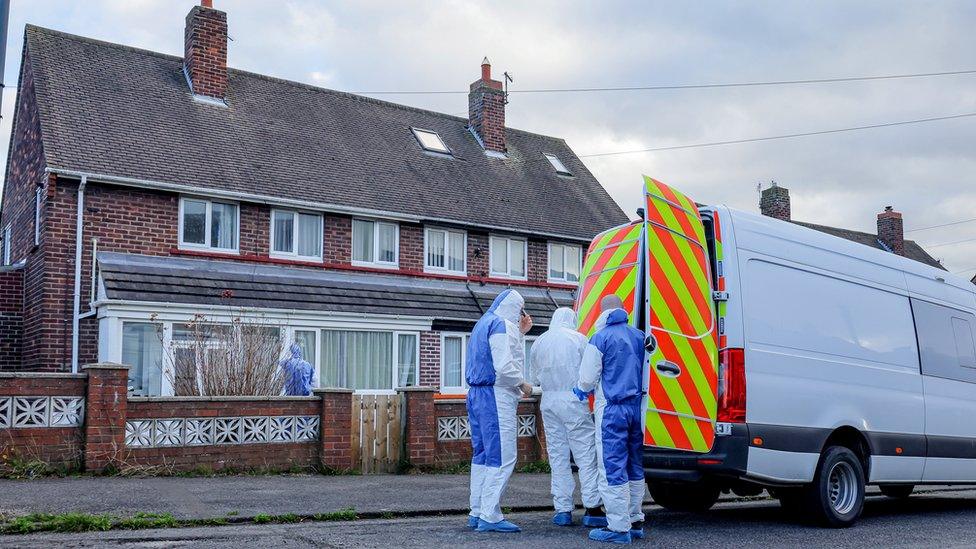
[[[223,100],[227,94],[227,14],[202,0],[186,14],[183,71],[190,91]]]

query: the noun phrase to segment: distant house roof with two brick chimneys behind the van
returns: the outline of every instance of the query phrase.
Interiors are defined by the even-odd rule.
[[[862,231],[852,231],[838,227],[828,227],[792,219],[790,214],[790,191],[786,187],[780,187],[775,183],[763,189],[759,199],[759,210],[763,215],[789,221],[803,227],[814,229],[822,233],[837,236],[858,244],[864,244],[871,248],[877,248],[893,254],[898,254],[915,261],[931,265],[945,270],[942,263],[929,255],[921,246],[913,240],[905,240],[905,228],[902,222],[901,213],[894,211],[891,206],[887,206],[884,211],[878,214],[877,234]]]

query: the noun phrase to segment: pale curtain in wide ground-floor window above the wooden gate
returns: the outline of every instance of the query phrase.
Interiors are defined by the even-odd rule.
[[[393,334],[322,331],[321,381],[353,390],[393,388]]]

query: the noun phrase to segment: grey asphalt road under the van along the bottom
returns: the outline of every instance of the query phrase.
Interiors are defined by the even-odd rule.
[[[710,513],[671,513],[649,506],[644,547],[973,547],[976,490],[947,490],[891,500],[868,499],[853,528],[825,530],[797,524],[772,501],[730,502]],[[559,528],[549,513],[509,518],[521,534],[475,534],[464,517],[366,520],[348,523],[238,525],[174,530],[35,534],[0,537],[17,547],[595,547],[586,529]]]

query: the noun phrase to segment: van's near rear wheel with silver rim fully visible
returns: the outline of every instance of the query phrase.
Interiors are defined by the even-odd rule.
[[[803,490],[804,516],[831,528],[846,528],[864,509],[864,467],[850,449],[831,446]]]

